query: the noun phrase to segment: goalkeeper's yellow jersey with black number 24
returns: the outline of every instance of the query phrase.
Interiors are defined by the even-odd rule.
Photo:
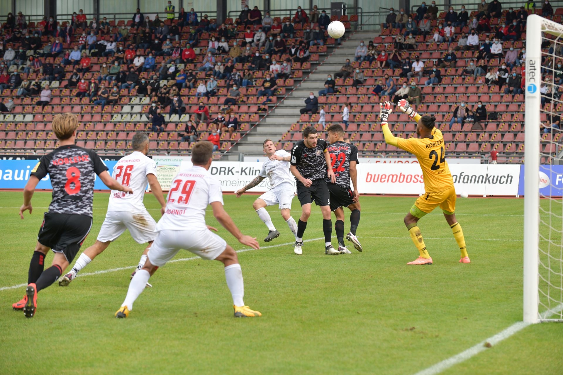
[[[439,129],[432,129],[430,138],[397,138],[397,146],[417,157],[424,176],[427,193],[449,189],[454,185],[452,173],[444,155],[444,137]]]

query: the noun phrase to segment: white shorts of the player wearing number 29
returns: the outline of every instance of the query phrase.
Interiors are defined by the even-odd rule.
[[[157,233],[157,238],[150,247],[147,256],[150,263],[163,266],[171,260],[178,251],[186,249],[199,255],[203,259],[213,260],[227,248],[227,243],[209,229],[195,231],[164,230]]]

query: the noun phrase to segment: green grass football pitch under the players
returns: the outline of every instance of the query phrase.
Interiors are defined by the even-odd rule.
[[[51,198],[37,192],[33,214],[20,220],[21,196],[0,193],[0,288],[26,281]],[[95,241],[108,197],[95,195],[83,249]],[[282,235],[262,242],[267,229],[252,209],[254,198],[226,195],[225,207],[243,233],[272,246],[239,254],[244,301],[261,318],[234,319],[221,264],[197,259],[159,269],[129,318],[115,319],[144,248],[126,233],[83,273],[130,269],[79,277],[66,288],[53,284],[39,293],[33,319],[11,308],[24,287],[0,290],[0,373],[413,374],[522,319],[522,200],[458,200],[471,264],[458,263],[440,212],[427,215],[420,227],[435,263],[406,266],[418,256],[403,224],[413,197],[361,197],[365,250],[338,256],[324,255],[323,240],[294,255],[275,207],[269,211]],[[147,195],[145,205],[158,220],[154,197]],[[297,200],[293,207],[297,219]],[[211,212],[207,219],[219,228]],[[243,249],[225,229],[219,234]],[[322,236],[315,207],[305,239]],[[444,373],[561,374],[563,324],[525,328]]]

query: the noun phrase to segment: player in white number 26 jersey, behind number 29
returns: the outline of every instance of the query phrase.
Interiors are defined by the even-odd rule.
[[[162,206],[162,212],[164,212],[166,202],[157,179],[157,165],[146,156],[149,152],[149,137],[145,133],[137,133],[133,136],[131,146],[134,151],[123,156],[115,164],[113,178],[123,186],[132,188],[133,194],[125,195],[117,190],[110,192],[108,213],[106,213],[96,242],[84,250],[70,272],[59,279],[60,286],[67,286],[73,281],[81,269],[107,249],[111,241],[117,240],[126,229],[129,229],[131,237],[137,243],[149,243],[141,256],[137,270],[145,264],[146,254],[157,235],[155,232],[157,223],[143,204],[147,183]],[[134,274],[135,272],[133,272]],[[147,286],[151,285],[147,284]]]

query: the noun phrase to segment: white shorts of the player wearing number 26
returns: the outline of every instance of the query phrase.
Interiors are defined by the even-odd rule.
[[[145,243],[154,241],[154,238],[157,237],[156,227],[157,223],[148,211],[141,214],[133,214],[129,211],[108,211],[97,240],[100,242],[114,241],[126,229],[129,229],[133,240],[137,243]]]

